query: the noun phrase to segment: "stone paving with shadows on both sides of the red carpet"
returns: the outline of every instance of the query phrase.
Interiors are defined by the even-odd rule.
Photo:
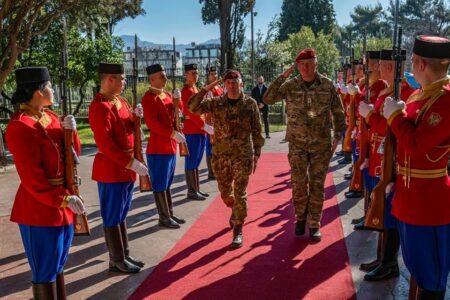
[[[284,132],[273,133],[271,136],[271,139],[266,140],[263,151],[287,152],[288,144],[280,143]],[[217,196],[217,184],[215,181],[207,180],[206,165],[203,162],[200,168],[200,181],[202,189],[209,192],[210,197],[204,201],[187,200],[184,185],[184,159],[178,159],[172,186],[174,210],[187,220],[187,223],[178,230],[159,228],[152,193],[136,191],[127,219],[130,247],[132,255],[144,260],[146,266],[140,273],[134,275],[109,273],[97,187],[95,182],[90,180],[95,152],[95,148],[85,148],[79,168],[82,178],[80,189],[87,204],[92,235],[78,237],[74,240],[65,268],[67,291],[69,299],[126,299]],[[343,174],[347,172],[348,166],[338,166],[336,160],[337,158],[334,157],[331,168],[334,171],[341,220],[358,299],[407,299],[409,274],[402,262],[401,276],[398,279],[378,283],[369,283],[362,279],[364,273],[358,270],[358,266],[374,257],[376,233],[353,231],[350,221],[352,218],[362,215],[363,203],[362,200],[345,199],[343,196],[348,187],[348,181],[343,179]],[[18,226],[9,221],[18,184],[19,178],[14,166],[0,170],[1,299],[31,298],[31,273],[23,251]],[[448,290],[450,290],[450,284]]]

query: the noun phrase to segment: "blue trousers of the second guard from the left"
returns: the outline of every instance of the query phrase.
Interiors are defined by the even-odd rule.
[[[114,227],[125,221],[133,197],[134,182],[98,182],[100,213],[104,227]]]

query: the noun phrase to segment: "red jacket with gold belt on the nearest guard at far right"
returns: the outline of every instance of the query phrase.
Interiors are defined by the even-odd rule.
[[[450,224],[450,84],[445,78],[415,91],[388,120],[397,141],[392,214],[422,226]]]

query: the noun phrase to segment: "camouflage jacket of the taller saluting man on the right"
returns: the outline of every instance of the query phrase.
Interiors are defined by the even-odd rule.
[[[330,145],[331,125],[334,138],[340,139],[345,126],[344,109],[331,80],[318,73],[310,87],[300,76],[285,80],[281,75],[270,85],[264,102],[273,104],[286,99],[289,145],[308,148]]]

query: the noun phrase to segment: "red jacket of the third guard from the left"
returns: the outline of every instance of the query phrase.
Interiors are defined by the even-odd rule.
[[[181,109],[181,101],[179,104]],[[142,98],[142,107],[150,130],[147,154],[176,154],[177,142],[171,137],[175,119],[172,95],[150,87]]]

